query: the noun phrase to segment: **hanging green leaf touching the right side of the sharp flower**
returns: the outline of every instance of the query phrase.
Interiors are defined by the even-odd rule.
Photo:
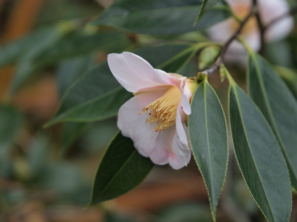
[[[214,89],[205,77],[196,89],[189,115],[189,138],[196,163],[204,178],[212,217],[216,217],[228,163],[225,114]]]

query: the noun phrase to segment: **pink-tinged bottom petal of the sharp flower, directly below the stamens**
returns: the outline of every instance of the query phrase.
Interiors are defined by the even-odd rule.
[[[158,165],[164,165],[169,162],[169,157],[174,154],[173,137],[176,134],[175,126],[167,128],[158,133],[156,149],[151,153],[151,161]]]

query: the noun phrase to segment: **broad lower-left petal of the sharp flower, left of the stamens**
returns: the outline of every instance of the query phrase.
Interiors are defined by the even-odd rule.
[[[149,112],[141,115],[139,112],[162,94],[164,91],[139,94],[125,102],[119,109],[118,128],[123,136],[132,139],[135,148],[145,157],[149,157],[156,147],[158,133],[153,130],[153,127],[157,126],[157,123],[153,125],[146,123]]]

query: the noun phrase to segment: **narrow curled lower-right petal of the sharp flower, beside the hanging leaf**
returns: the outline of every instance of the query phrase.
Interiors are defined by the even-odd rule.
[[[176,135],[173,137],[173,149],[177,157],[186,166],[191,158],[188,130],[185,124],[186,115],[180,107],[176,113]]]

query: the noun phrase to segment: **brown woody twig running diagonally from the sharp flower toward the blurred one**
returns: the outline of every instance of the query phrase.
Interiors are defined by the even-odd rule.
[[[220,53],[219,57],[217,58],[217,61],[210,68],[208,68],[207,70],[204,70],[202,72],[203,74],[210,75],[211,73],[213,73],[214,70],[216,70],[222,64],[224,56],[226,54],[226,51],[227,51],[229,45],[232,43],[232,41],[234,39],[236,39],[236,37],[238,36],[238,34],[240,34],[240,32],[241,32],[242,28],[244,27],[245,23],[247,22],[247,20],[249,20],[249,18],[254,14],[255,14],[255,8],[253,7],[251,12],[249,13],[249,15],[241,22],[240,27],[238,28],[236,33],[234,33],[233,36],[231,36],[228,39],[228,41],[225,43],[225,45],[222,47],[221,53]]]

